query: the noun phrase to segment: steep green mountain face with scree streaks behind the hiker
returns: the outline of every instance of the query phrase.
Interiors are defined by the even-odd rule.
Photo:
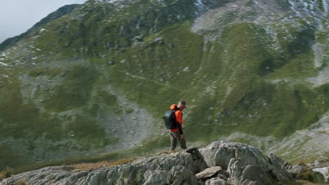
[[[190,145],[325,161],[328,28],[325,0],[87,1],[0,53],[0,167],[162,149],[179,100]]]

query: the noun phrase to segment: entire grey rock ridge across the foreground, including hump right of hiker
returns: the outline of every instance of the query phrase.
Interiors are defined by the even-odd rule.
[[[125,165],[84,172],[45,167],[0,181],[17,184],[291,184],[297,175],[284,160],[247,144],[214,142],[202,149],[139,158]],[[298,167],[297,167],[298,168]],[[290,169],[290,170],[288,170]],[[321,173],[319,173],[321,174]],[[317,174],[318,175],[318,174]],[[323,176],[322,176],[323,179]]]

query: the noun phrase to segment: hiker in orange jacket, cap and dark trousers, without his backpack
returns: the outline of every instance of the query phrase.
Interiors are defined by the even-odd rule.
[[[176,149],[177,142],[181,145],[181,149],[186,149],[186,141],[185,137],[183,135],[183,109],[186,108],[186,102],[185,101],[180,101],[178,106],[176,104],[172,104],[170,109],[172,111],[175,111],[175,116],[176,116],[176,125],[177,128],[173,128],[169,130],[170,134],[170,142],[171,142],[171,147],[170,151],[174,151]]]

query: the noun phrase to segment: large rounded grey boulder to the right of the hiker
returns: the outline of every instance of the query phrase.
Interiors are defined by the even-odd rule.
[[[205,163],[221,166],[230,174],[230,184],[277,184],[289,181],[288,172],[276,163],[276,156],[264,156],[247,144],[214,142],[200,149]]]

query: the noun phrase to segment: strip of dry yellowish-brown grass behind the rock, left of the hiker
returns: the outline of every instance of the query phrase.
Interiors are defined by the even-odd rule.
[[[120,160],[115,160],[115,161],[107,161],[107,160],[103,160],[101,162],[98,163],[81,163],[81,164],[76,164],[76,165],[72,165],[72,167],[75,167],[77,170],[82,170],[82,171],[86,171],[89,172],[90,170],[96,170],[102,167],[111,167],[111,166],[115,166],[115,165],[124,165],[127,163],[131,163],[133,160],[136,160],[136,158],[124,158],[124,159],[120,159]]]

